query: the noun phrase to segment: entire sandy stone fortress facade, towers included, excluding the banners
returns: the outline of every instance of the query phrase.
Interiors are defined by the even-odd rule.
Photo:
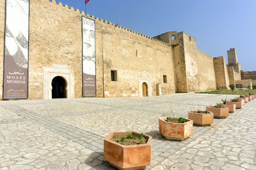
[[[4,0],[0,0],[0,9],[3,85]],[[83,97],[82,16],[95,20],[97,97],[142,97],[144,90],[147,96],[161,96],[225,89],[241,80],[234,48],[226,66],[224,57],[213,58],[198,50],[196,39],[185,32],[150,38],[54,0],[30,0],[28,99],[51,99],[56,76],[65,80],[67,97]]]

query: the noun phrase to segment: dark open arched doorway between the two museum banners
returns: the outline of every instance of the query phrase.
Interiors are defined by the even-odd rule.
[[[67,98],[67,82],[61,76],[52,79],[52,99]]]

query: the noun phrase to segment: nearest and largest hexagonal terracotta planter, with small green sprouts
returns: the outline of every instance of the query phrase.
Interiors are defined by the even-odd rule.
[[[150,165],[152,137],[137,132],[112,132],[104,139],[104,159],[118,169]]]

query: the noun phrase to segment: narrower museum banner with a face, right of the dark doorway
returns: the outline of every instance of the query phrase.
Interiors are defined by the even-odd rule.
[[[95,20],[83,21],[83,97],[96,96]]]

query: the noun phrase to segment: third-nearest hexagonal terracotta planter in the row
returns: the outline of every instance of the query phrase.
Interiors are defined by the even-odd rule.
[[[189,111],[188,112],[188,118],[190,120],[193,120],[194,125],[198,126],[209,126],[213,124],[213,113],[210,111]]]

